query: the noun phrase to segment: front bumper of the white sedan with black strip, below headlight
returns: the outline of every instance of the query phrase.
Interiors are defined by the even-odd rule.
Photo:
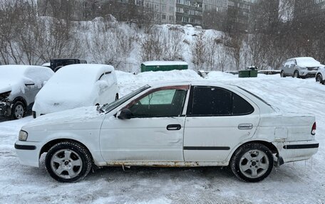
[[[39,152],[41,151],[39,142],[17,140],[15,149],[21,164],[39,167]]]

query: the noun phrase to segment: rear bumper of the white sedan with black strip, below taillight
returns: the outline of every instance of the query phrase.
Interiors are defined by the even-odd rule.
[[[284,163],[310,159],[319,148],[319,143],[315,140],[273,142],[272,144],[277,146],[279,156]]]

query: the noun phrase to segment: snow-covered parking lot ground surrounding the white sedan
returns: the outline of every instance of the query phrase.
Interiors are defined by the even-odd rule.
[[[191,70],[117,72],[120,95],[148,82],[203,80]],[[274,168],[259,183],[244,183],[227,168],[103,168],[78,183],[58,183],[44,167],[22,166],[14,150],[31,117],[0,122],[0,203],[325,203],[325,85],[314,79],[212,72],[208,79],[239,85],[284,112],[316,114],[319,152],[308,161]]]

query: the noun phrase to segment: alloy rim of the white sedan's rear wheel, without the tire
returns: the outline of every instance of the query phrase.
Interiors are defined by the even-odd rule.
[[[269,158],[264,151],[247,151],[239,162],[239,169],[247,178],[259,178],[269,169]]]

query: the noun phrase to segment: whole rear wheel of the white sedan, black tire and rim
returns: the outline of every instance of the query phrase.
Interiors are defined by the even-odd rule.
[[[273,162],[272,151],[267,146],[250,143],[240,146],[234,152],[229,166],[234,176],[237,176],[240,180],[258,182],[269,176],[273,168]]]

